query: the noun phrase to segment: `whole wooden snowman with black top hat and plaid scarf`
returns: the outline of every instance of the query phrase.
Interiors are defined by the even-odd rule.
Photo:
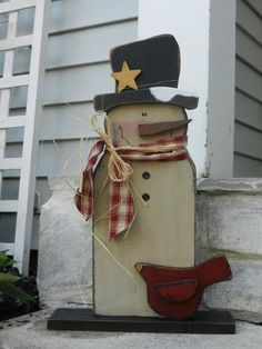
[[[111,67],[117,91],[94,98],[95,111],[107,113],[105,130],[93,121],[102,140],[77,197],[85,219],[93,216],[93,312],[162,316],[150,305],[140,261],[194,266],[195,170],[185,109],[196,108],[198,97],[178,89],[180,50],[170,34],[114,48]]]

